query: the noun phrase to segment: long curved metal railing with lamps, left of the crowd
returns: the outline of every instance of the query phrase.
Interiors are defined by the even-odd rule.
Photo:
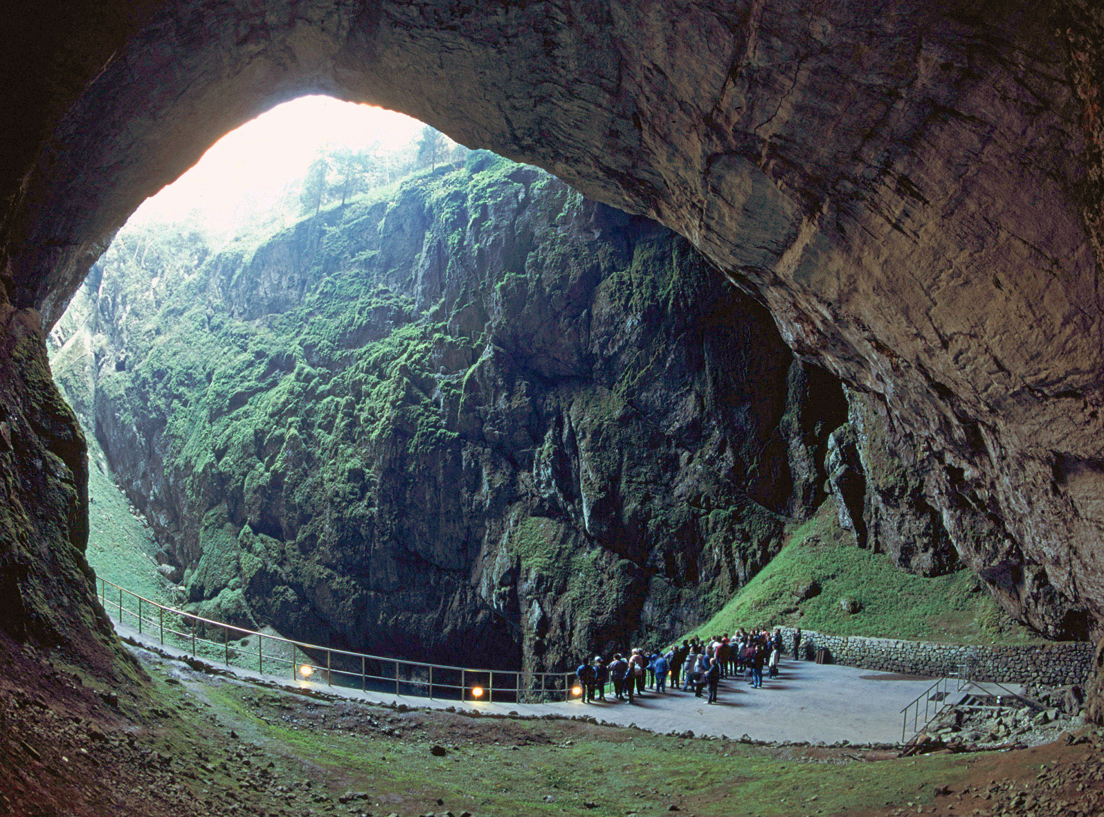
[[[574,672],[453,667],[323,647],[185,613],[105,579],[99,579],[99,602],[120,624],[134,625],[162,645],[262,675],[307,682],[325,672],[327,686],[431,700],[548,703],[581,697]]]

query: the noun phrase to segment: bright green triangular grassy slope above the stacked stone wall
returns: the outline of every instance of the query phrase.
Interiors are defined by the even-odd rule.
[[[819,592],[799,598],[810,585]],[[858,602],[860,611],[847,613],[842,598]],[[925,579],[905,573],[884,554],[856,547],[840,528],[832,500],[797,528],[778,555],[720,613],[689,635],[773,625],[954,644],[1033,639],[969,571]]]

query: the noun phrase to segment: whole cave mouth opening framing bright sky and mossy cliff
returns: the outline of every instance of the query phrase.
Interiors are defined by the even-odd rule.
[[[571,585],[572,593],[607,580],[634,597],[644,598],[654,585],[659,588],[655,592],[666,606],[657,613],[641,603],[640,611],[623,616],[613,606],[602,605],[593,625],[584,622],[588,639],[593,636],[608,646],[626,640],[630,627],[634,633],[649,627],[664,636],[684,634],[698,616],[693,611],[682,612],[697,604],[687,601],[696,597],[697,556],[672,558],[670,570],[654,583],[645,566],[651,551],[666,553],[683,540],[697,547],[704,541],[699,529],[708,526],[723,527],[722,535],[730,528],[739,529],[741,541],[751,542],[754,533],[755,547],[763,551],[756,558],[779,548],[782,517],[790,510],[797,513],[799,506],[809,505],[811,510],[822,498],[817,486],[825,477],[819,466],[825,437],[845,417],[839,385],[795,361],[769,315],[752,301],[744,303],[687,240],[646,219],[584,200],[532,166],[516,165],[489,151],[465,156],[466,148],[397,114],[388,115],[399,117],[393,121],[400,135],[392,137],[391,150],[380,147],[385,141],[379,135],[382,128],[372,131],[363,125],[350,128],[343,141],[332,138],[323,126],[320,137],[297,139],[283,158],[266,153],[275,148],[258,147],[255,137],[241,138],[262,126],[277,137],[306,124],[317,130],[326,119],[319,112],[327,106],[364,112],[364,106],[318,97],[276,107],[226,136],[193,170],[149,199],[93,266],[73,300],[71,310],[76,312],[66,314],[55,329],[55,346],[63,356],[67,348],[72,360],[95,362],[91,378],[97,389],[95,401],[74,400],[64,382],[79,384],[88,378],[63,375],[61,385],[85,427],[93,429],[89,448],[94,460],[103,460],[99,476],[125,474],[120,484],[126,494],[147,510],[152,531],[146,533],[157,541],[147,545],[145,555],[160,563],[180,603],[192,605],[189,609],[204,618],[243,629],[278,620],[273,626],[290,637],[375,655],[461,664],[456,650],[464,649],[495,656],[497,668],[519,666],[524,649],[540,666],[566,666],[572,632],[564,625],[546,644],[544,629],[559,616],[553,605],[566,608],[574,597],[571,593],[550,593],[549,598],[541,595],[538,600],[534,591],[529,598],[532,603],[524,605],[533,633],[522,632],[518,624],[522,579],[520,567],[510,565],[514,556],[526,553],[548,556],[550,564],[571,564],[570,575],[556,564],[552,573],[555,581]],[[317,167],[321,169],[311,187]],[[349,167],[360,174],[359,183],[348,183],[342,171]],[[477,176],[481,181],[470,182],[471,189],[490,191],[481,204],[468,200],[460,189],[469,183],[465,180]],[[264,182],[259,192],[231,184],[251,178]],[[405,184],[405,179],[412,183]],[[423,180],[426,190],[412,193],[404,205],[392,208],[380,200],[391,191],[417,188]],[[383,192],[373,198],[373,190]],[[414,201],[418,197],[424,201]],[[530,208],[533,201],[538,203]],[[395,220],[389,222],[392,211]],[[435,215],[423,219],[431,211]],[[365,234],[376,236],[364,241],[375,244],[342,237],[343,225],[357,219]],[[404,233],[402,220],[417,224],[405,230],[406,237],[400,235]],[[391,227],[400,227],[393,231],[400,237],[382,246],[378,238],[392,235]],[[251,237],[256,232],[287,241],[266,255],[268,243]],[[540,243],[538,234],[548,244],[534,248]],[[341,246],[332,247],[328,261],[305,261],[335,241]],[[391,261],[372,261],[389,254]],[[221,266],[215,263],[220,256],[225,259]],[[400,257],[405,261],[394,261]],[[463,258],[459,267],[452,266],[455,257]],[[253,258],[263,262],[251,267]],[[351,264],[342,266],[341,259]],[[202,266],[208,269],[193,277],[192,270]],[[332,274],[353,269],[353,275]],[[376,273],[380,287],[368,283]],[[347,280],[354,277],[363,280],[359,285]],[[623,303],[615,297],[633,288],[626,282],[634,279],[639,284],[633,285],[639,289],[637,299]],[[417,294],[403,289],[407,282],[413,282],[410,289],[416,286]],[[310,318],[310,326],[300,322],[293,330],[301,335],[288,332],[289,314],[304,306],[306,295],[320,294],[323,286],[342,308],[362,298],[369,319],[347,321],[338,316],[319,329],[322,319],[336,312],[321,305],[317,311],[297,312]],[[135,335],[142,337],[130,344],[137,349],[100,343],[95,337],[72,342],[73,328],[82,310],[89,311],[93,294],[103,326],[118,323],[118,316],[126,315],[137,327]],[[522,316],[531,295],[538,307]],[[221,303],[210,308],[215,300]],[[683,305],[687,314],[672,305]],[[516,326],[511,320],[493,323],[496,308],[532,323],[535,340],[510,336],[503,328]],[[595,314],[598,318],[592,320]],[[364,330],[373,321],[381,327],[413,327],[416,321],[411,316],[422,315],[432,318],[406,335],[394,332],[394,326],[379,335],[371,327]],[[245,322],[253,328],[243,330]],[[696,328],[688,329],[688,322]],[[538,331],[537,325],[554,329]],[[603,339],[601,353],[606,354],[598,378],[593,360],[601,354],[591,347],[591,337]],[[153,349],[158,338],[170,343]],[[349,374],[350,361],[362,354],[360,344],[388,342],[393,347],[381,349],[379,357],[393,354],[396,364],[388,368],[386,376]],[[400,360],[404,344],[418,346],[425,360],[414,361],[417,365]],[[755,348],[754,354],[750,347]],[[646,351],[636,354],[637,348]],[[502,350],[517,353],[517,359],[503,362]],[[645,376],[641,367],[666,361],[670,354],[686,365],[666,375],[673,397],[667,400],[648,391],[651,378]],[[479,363],[485,358],[499,369],[484,372]],[[662,367],[658,362],[655,367],[652,374],[659,376]],[[61,370],[57,367],[55,373]],[[528,385],[519,385],[517,394],[499,401],[499,380]],[[405,463],[376,468],[379,460],[365,454],[374,444],[374,432],[344,435],[342,429],[371,431],[382,423],[381,415],[372,413],[379,404],[374,396],[391,385],[397,391],[383,396],[396,400],[400,410],[388,415],[397,420],[388,426],[391,436],[386,438],[408,457]],[[534,390],[532,401],[528,388]],[[694,395],[701,390],[712,396],[698,400]],[[821,400],[798,412],[807,390],[830,392],[834,400],[827,402],[831,405]],[[760,391],[769,396],[762,401],[747,396]],[[274,396],[269,399],[268,393]],[[298,408],[289,410],[291,395],[307,396],[296,404]],[[282,402],[284,397],[287,402]],[[522,397],[528,415],[496,408]],[[423,422],[427,401],[436,402],[439,410],[433,423]],[[465,401],[475,407],[465,408]],[[561,403],[574,407],[561,410]],[[307,404],[309,412],[297,415]],[[683,404],[684,411],[679,408]],[[707,405],[715,412],[699,416]],[[187,411],[177,413],[176,406]],[[180,420],[189,412],[203,416],[194,422]],[[649,412],[655,422],[648,420]],[[745,416],[749,412],[755,416]],[[799,413],[808,415],[807,423],[794,420]],[[659,422],[668,414],[669,424]],[[792,446],[781,442],[785,435],[775,433],[787,416],[793,422],[786,425],[786,434],[795,441],[815,438],[808,452],[806,443],[800,443],[800,457],[817,460],[809,468],[803,469],[797,455],[792,461]],[[640,443],[630,468],[634,476],[622,480],[619,465],[577,445],[575,426],[588,429],[587,438],[591,432],[595,439],[602,438],[599,429],[617,435],[609,443],[614,447],[627,449],[629,443]],[[335,447],[321,445],[323,439]],[[697,466],[681,455],[682,446],[690,444],[687,441],[715,450],[718,468],[732,474],[719,486],[701,487],[709,496],[692,503],[682,501],[675,490],[678,479],[671,481],[669,492],[638,487],[658,485],[671,473],[684,473],[690,480]],[[461,450],[461,446],[467,447]],[[510,456],[497,457],[500,447]],[[310,466],[297,467],[293,455],[302,448],[327,453],[325,461],[322,457],[315,460],[317,473]],[[336,452],[332,456],[331,450]],[[726,465],[732,452],[735,464]],[[583,460],[597,458],[602,463],[593,467],[602,469],[603,478],[593,485],[580,478],[575,485],[574,475]],[[405,476],[401,466],[426,459],[439,466],[436,474],[423,469],[421,476]],[[465,463],[478,463],[478,467]],[[465,497],[481,490],[484,480],[477,471],[482,468],[508,471],[501,484],[496,481],[506,510],[493,518],[488,514],[486,537],[479,532],[482,522],[454,521],[460,519]],[[549,486],[522,491],[522,478],[542,469],[549,471]],[[764,484],[743,497],[742,480],[758,473],[767,475]],[[169,475],[176,485],[169,484]],[[96,478],[93,474],[93,481]],[[511,487],[513,480],[518,490]],[[375,486],[384,482],[388,489],[376,491]],[[287,486],[305,486],[300,494],[309,495],[309,501],[297,503],[293,496],[297,491]],[[516,494],[523,501],[514,501]],[[330,513],[326,503],[331,500],[340,506],[340,513]],[[386,512],[376,513],[384,503],[390,503]],[[95,517],[100,506],[94,507]],[[192,513],[185,506],[200,511]],[[404,512],[408,518],[390,521],[411,507],[440,507],[448,512]],[[714,510],[719,517],[710,516]],[[316,522],[331,517],[337,519],[332,531],[323,530],[328,521]],[[382,524],[381,519],[393,530],[375,531],[373,526]],[[607,544],[596,547],[595,542]],[[171,543],[169,552],[167,543]],[[486,594],[484,585],[476,584],[477,570],[485,570],[484,548],[498,548],[491,552],[502,555],[486,560],[491,565],[486,570],[496,571],[485,583]],[[318,565],[300,570],[296,560],[316,550],[329,555],[323,553]],[[386,550],[383,556],[381,550]],[[94,547],[89,551],[89,561],[102,571]],[[136,561],[141,559],[142,554],[136,555]],[[326,572],[338,562],[340,570]],[[709,576],[710,581],[725,581],[722,572],[728,575],[729,566]],[[125,576],[108,577],[136,586]],[[351,593],[331,592],[331,585],[344,582],[348,588],[358,579],[363,580],[362,586]],[[380,612],[380,598],[397,595],[400,590],[408,591],[410,597],[395,603],[399,612]],[[363,602],[359,607],[353,603],[357,598]],[[469,632],[460,646],[448,637],[449,605],[463,611],[461,624]],[[668,615],[668,609],[678,617]],[[416,638],[407,630],[394,637],[378,635],[385,627],[376,619],[391,620],[385,616],[392,616],[402,623],[405,619],[395,616],[411,617],[407,614],[424,616],[429,623],[407,628],[417,632]],[[420,640],[423,635],[425,639]],[[357,640],[369,636],[376,640]]]

